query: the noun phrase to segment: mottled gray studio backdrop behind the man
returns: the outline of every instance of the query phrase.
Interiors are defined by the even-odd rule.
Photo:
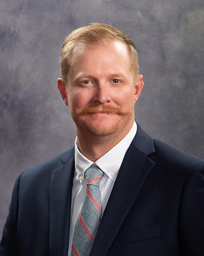
[[[91,22],[134,39],[145,87],[136,120],[204,158],[203,0],[1,0],[0,233],[17,175],[65,150],[74,126],[58,92],[65,36]]]

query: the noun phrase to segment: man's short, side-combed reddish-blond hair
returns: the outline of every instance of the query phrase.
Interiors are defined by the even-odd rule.
[[[106,24],[92,23],[88,26],[72,31],[64,40],[60,56],[62,79],[67,84],[68,76],[72,68],[72,52],[75,46],[80,44],[106,43],[110,40],[119,40],[130,51],[131,69],[134,79],[139,77],[138,54],[134,41],[120,30]]]

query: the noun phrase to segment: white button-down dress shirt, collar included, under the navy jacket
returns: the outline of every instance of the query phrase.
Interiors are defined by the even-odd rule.
[[[124,155],[129,148],[133,138],[137,132],[137,124],[134,122],[131,131],[109,152],[100,157],[95,164],[104,172],[103,178],[100,180],[100,194],[101,194],[101,217],[108,203],[112,188],[116,181],[120,166],[122,164]],[[71,220],[69,230],[69,250],[68,256],[71,256],[71,245],[73,239],[74,225],[78,218],[82,203],[86,193],[86,169],[94,164],[94,162],[82,155],[78,148],[77,138],[75,139],[75,171],[73,178],[72,197],[71,197]],[[85,180],[84,180],[85,179]]]

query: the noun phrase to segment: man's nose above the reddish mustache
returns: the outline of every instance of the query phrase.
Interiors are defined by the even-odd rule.
[[[96,104],[105,104],[111,101],[110,91],[106,83],[98,83],[95,87],[93,102]]]

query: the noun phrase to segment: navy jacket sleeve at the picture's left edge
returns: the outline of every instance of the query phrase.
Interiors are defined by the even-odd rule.
[[[0,243],[1,256],[18,256],[17,244],[17,223],[18,223],[18,189],[19,181],[22,173],[16,179],[11,204],[9,207],[9,215],[3,229],[3,236]]]

